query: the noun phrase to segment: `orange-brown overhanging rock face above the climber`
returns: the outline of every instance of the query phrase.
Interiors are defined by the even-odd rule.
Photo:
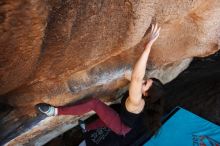
[[[192,57],[219,50],[219,17],[219,0],[2,0],[0,103],[11,112],[1,114],[0,141],[37,142],[62,121],[75,121],[56,118],[33,132],[39,121],[48,124],[36,117],[37,103],[65,105],[91,95],[113,101],[155,22],[162,30],[147,70],[172,80]]]

